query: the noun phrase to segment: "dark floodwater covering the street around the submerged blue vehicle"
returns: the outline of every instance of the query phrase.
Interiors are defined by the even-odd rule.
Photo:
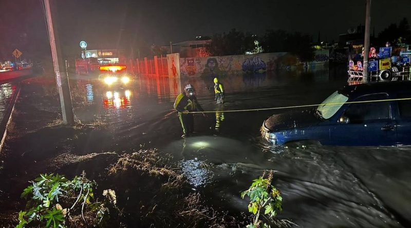
[[[222,76],[227,92],[223,105],[215,104],[209,89],[213,81],[207,77],[142,76],[116,88],[73,76],[71,87],[84,104],[76,108],[76,118],[107,126],[82,150],[158,148],[181,163],[193,191],[246,212],[248,202],[239,192],[264,170],[274,170],[274,184],[283,193],[279,217],[301,227],[411,227],[409,147],[271,147],[260,137],[261,124],[288,110],[222,112],[320,103],[345,85],[344,69]],[[195,116],[196,133],[182,139],[173,103],[188,83],[194,85],[201,106],[217,112]]]

